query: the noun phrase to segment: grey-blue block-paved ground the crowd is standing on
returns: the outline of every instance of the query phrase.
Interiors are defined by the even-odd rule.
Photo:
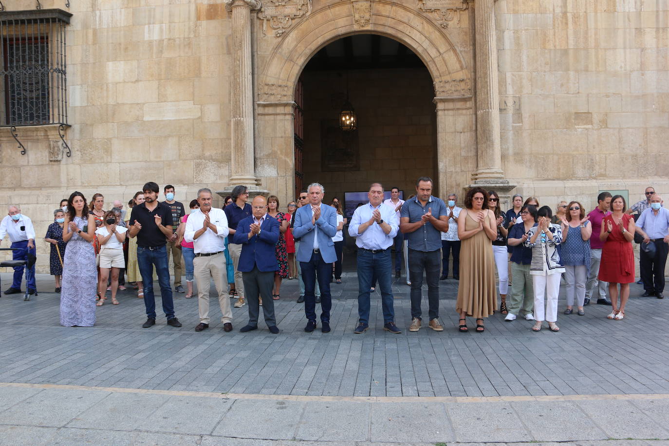
[[[9,273],[3,273],[4,290]],[[640,298],[632,286],[625,320],[607,320],[607,306],[590,305],[585,316],[563,316],[559,333],[532,332],[532,322],[486,320],[486,332],[456,330],[456,284],[441,282],[444,332],[422,328],[409,333],[409,287],[395,290],[395,320],[402,334],[382,330],[380,296],[373,295],[371,330],[353,334],[357,322],[357,278],[332,285],[332,332],[303,331],[296,280],[285,280],[276,302],[278,326],[272,335],[238,331],[248,307],[233,310],[235,330],[225,333],[212,300],[212,324],[193,331],[197,298],[175,294],[183,328],[159,316],[145,321],[142,300],[120,294],[97,308],[93,328],[66,328],[59,322],[59,296],[40,292],[29,302],[19,295],[0,298],[0,382],[163,389],[213,393],[358,397],[498,397],[669,393],[669,330],[666,300]],[[38,288],[53,291],[48,275]],[[213,287],[212,287],[213,296]],[[158,299],[158,308],[160,308]],[[423,300],[423,311],[427,302]],[[159,311],[160,314],[160,311]]]

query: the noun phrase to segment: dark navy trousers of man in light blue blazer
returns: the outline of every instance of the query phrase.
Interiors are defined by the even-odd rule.
[[[310,261],[300,261],[302,280],[304,280],[304,314],[308,320],[316,321],[316,279],[320,286],[320,320],[330,322],[332,296],[330,295],[330,277],[332,263],[325,263],[320,254],[312,253]]]

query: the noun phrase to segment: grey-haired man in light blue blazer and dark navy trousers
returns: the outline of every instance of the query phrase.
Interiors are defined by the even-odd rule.
[[[332,263],[337,261],[332,237],[337,233],[337,213],[334,208],[322,203],[325,189],[318,183],[312,183],[306,189],[309,196],[308,205],[300,207],[295,213],[293,225],[294,237],[300,238],[297,259],[304,280],[304,313],[308,320],[305,332],[316,328],[316,296],[314,288],[316,278],[320,286],[320,314],[323,333],[330,332],[330,276]]]

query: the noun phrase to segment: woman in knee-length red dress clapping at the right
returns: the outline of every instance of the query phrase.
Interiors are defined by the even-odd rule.
[[[622,195],[611,199],[611,215],[601,222],[599,239],[604,242],[599,263],[599,277],[609,282],[609,295],[613,311],[609,319],[622,320],[625,304],[630,298],[630,284],[634,282],[634,218],[625,213],[626,203]],[[618,284],[620,284],[620,306],[618,306]]]

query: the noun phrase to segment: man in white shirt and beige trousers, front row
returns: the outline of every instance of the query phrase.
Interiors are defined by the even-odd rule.
[[[227,298],[227,273],[225,271],[225,237],[229,232],[227,217],[223,209],[211,207],[213,195],[207,188],[197,191],[197,203],[200,209],[191,213],[186,221],[183,233],[185,241],[193,242],[193,277],[197,284],[197,308],[200,323],[195,327],[201,332],[209,327],[209,288],[210,277],[218,293],[221,306],[223,330],[232,331],[232,310]]]

